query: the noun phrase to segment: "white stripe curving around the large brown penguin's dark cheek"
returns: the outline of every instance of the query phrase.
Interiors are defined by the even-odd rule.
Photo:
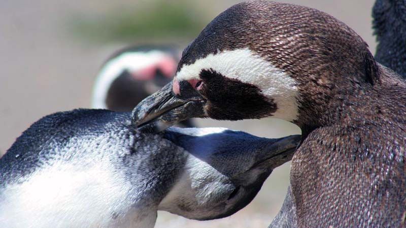
[[[183,65],[177,80],[198,79],[202,69],[213,69],[224,77],[237,79],[258,87],[265,97],[274,99],[278,109],[273,116],[293,121],[298,115],[297,82],[285,71],[275,67],[255,52],[245,49],[222,51]]]

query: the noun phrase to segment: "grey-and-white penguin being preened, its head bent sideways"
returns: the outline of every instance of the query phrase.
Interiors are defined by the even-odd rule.
[[[0,159],[0,227],[153,227],[245,207],[300,135],[224,128],[140,133],[130,112],[75,109],[34,123]]]

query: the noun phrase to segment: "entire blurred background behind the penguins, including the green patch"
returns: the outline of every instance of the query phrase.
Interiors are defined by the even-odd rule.
[[[30,124],[50,113],[90,107],[91,89],[103,62],[133,44],[174,44],[183,49],[235,0],[2,0],[0,1],[0,156]],[[375,53],[373,0],[286,0],[344,21]],[[266,122],[266,123],[265,123]],[[263,137],[298,134],[275,120],[216,122]],[[240,212],[214,221],[192,221],[158,213],[156,227],[266,227],[279,211],[290,163],[274,170],[255,200]]]

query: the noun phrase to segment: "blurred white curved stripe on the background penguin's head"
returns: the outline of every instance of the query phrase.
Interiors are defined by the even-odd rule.
[[[110,86],[124,70],[137,71],[156,64],[165,57],[170,56],[162,51],[153,50],[149,52],[125,52],[109,60],[97,75],[93,87],[92,108],[107,109],[106,98]]]

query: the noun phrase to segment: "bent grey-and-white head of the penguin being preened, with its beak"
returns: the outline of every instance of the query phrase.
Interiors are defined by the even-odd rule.
[[[165,134],[188,156],[158,209],[198,220],[226,217],[248,205],[300,141],[300,135],[267,139],[223,128],[170,128]]]

